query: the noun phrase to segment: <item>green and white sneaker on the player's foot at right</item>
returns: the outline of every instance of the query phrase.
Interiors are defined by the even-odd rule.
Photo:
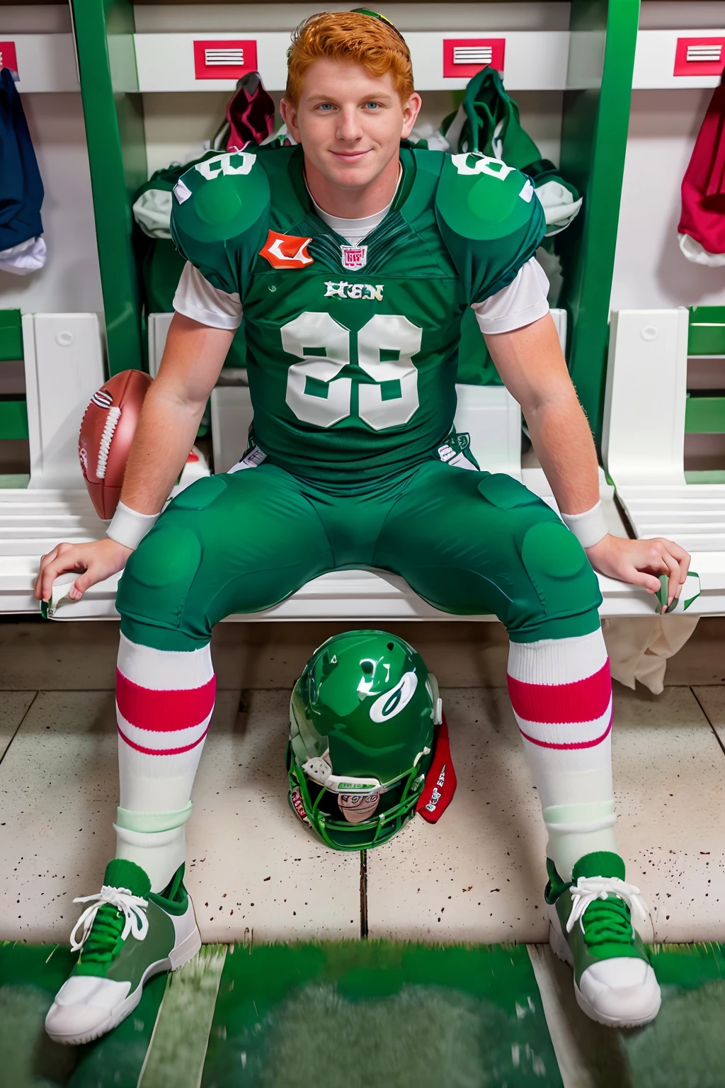
[[[562,880],[547,860],[551,929],[560,960],[574,967],[574,992],[587,1016],[608,1027],[639,1027],[654,1019],[660,987],[633,915],[641,925],[647,910],[639,888],[626,883],[618,854],[585,854],[572,881]]]

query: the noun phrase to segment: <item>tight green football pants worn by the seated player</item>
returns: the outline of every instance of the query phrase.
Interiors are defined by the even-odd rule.
[[[429,460],[364,492],[333,491],[267,462],[191,484],[128,559],[123,633],[196,650],[225,616],[361,567],[402,576],[442,611],[495,613],[517,642],[598,628],[599,584],[582,546],[511,477]]]

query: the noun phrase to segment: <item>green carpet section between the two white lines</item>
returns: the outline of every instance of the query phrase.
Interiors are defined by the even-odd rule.
[[[229,950],[202,1088],[560,1088],[526,948]]]

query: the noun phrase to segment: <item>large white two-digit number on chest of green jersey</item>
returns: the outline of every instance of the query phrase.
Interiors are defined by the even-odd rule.
[[[350,330],[329,313],[300,313],[280,329],[282,346],[302,362],[293,362],[287,375],[286,401],[298,419],[316,426],[332,426],[347,419],[352,407],[352,379],[338,376],[350,362]],[[360,418],[374,431],[399,426],[417,411],[417,368],[412,360],[421,350],[423,330],[401,314],[376,313],[358,333],[361,370],[375,384],[358,384]],[[305,353],[307,345],[307,353]],[[312,354],[324,347],[325,355]],[[382,351],[397,351],[395,360],[382,360]],[[305,392],[308,378],[326,384],[326,395]],[[399,382],[400,396],[383,399],[382,382]]]

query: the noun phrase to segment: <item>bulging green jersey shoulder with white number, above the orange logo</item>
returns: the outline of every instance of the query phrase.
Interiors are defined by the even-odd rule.
[[[196,163],[174,186],[171,235],[215,287],[241,294],[266,237],[270,183],[257,154],[224,151]]]

